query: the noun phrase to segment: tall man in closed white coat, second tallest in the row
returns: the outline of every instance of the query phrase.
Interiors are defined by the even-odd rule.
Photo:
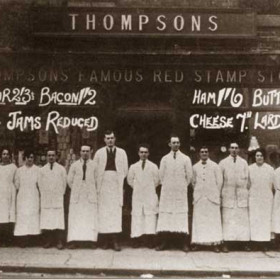
[[[165,250],[171,242],[180,241],[183,251],[188,246],[188,185],[192,180],[192,164],[188,156],[180,152],[180,139],[171,136],[170,153],[160,162],[160,180],[162,184],[159,202],[157,232],[161,244],[157,250]]]

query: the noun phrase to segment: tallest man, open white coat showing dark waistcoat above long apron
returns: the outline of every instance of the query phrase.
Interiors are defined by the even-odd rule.
[[[98,192],[98,232],[102,247],[120,251],[118,233],[122,232],[123,183],[128,172],[126,152],[115,146],[113,131],[104,135],[105,147],[94,156]]]

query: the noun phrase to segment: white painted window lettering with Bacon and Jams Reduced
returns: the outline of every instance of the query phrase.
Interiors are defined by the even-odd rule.
[[[27,87],[21,88],[4,88],[0,91],[0,106],[10,105],[24,106],[34,105],[35,107],[47,106],[91,106],[96,105],[97,91],[91,87],[85,87],[77,91],[58,91],[51,90],[49,87],[41,88],[39,94],[36,94]],[[73,116],[72,116],[73,115]],[[9,130],[18,129],[25,131],[26,129],[39,130],[45,129],[46,131],[53,129],[57,134],[60,128],[69,128],[70,126],[85,128],[87,131],[94,131],[98,128],[98,119],[95,116],[87,118],[75,116],[71,117],[61,115],[58,111],[50,111],[47,113],[46,118],[38,115],[26,115],[22,110],[10,112],[8,114],[8,121],[6,126]],[[44,123],[45,127],[42,127]]]

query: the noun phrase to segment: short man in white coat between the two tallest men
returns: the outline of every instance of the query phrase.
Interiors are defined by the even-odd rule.
[[[127,182],[133,188],[130,236],[134,239],[134,248],[141,243],[153,248],[158,217],[156,187],[159,185],[159,170],[148,160],[148,145],[139,145],[138,155],[139,161],[130,166],[127,175]]]

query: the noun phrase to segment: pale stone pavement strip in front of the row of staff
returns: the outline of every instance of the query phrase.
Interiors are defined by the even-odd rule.
[[[102,249],[0,248],[3,273],[69,274],[75,277],[280,277],[280,252],[157,252]],[[0,278],[1,273],[0,273]]]

